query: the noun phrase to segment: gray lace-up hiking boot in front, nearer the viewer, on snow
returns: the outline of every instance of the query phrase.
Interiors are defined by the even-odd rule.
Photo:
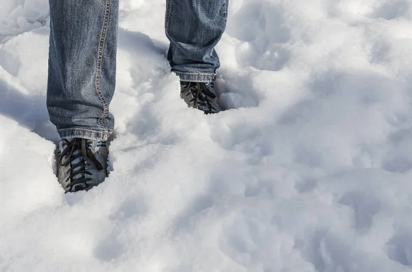
[[[71,138],[58,144],[57,177],[65,193],[90,190],[107,177],[105,142]]]

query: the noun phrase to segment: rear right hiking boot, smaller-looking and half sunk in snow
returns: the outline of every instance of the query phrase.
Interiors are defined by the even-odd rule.
[[[187,106],[203,110],[205,114],[222,110],[214,90],[214,82],[181,82],[181,98]]]

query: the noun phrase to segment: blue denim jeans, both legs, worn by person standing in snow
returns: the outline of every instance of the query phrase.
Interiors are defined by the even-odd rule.
[[[182,81],[211,82],[229,0],[167,0],[168,60]],[[47,109],[61,138],[107,140],[114,117],[119,0],[49,0]]]

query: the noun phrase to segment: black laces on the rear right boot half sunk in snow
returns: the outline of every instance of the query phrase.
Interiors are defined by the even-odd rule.
[[[216,95],[207,88],[206,84],[200,82],[187,82],[187,85],[186,90],[188,88],[190,92],[188,92],[186,96],[192,94],[193,98],[190,99],[190,102],[193,102],[194,107],[203,110],[206,114],[218,112],[213,103],[213,99],[216,98]],[[182,90],[182,92],[185,92],[185,90]],[[208,110],[204,110],[205,108]]]

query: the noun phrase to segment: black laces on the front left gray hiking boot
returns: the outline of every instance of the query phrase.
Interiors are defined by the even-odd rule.
[[[79,150],[80,152],[73,154],[73,151],[75,150]],[[63,158],[68,158],[68,160],[63,163]],[[78,158],[82,158],[82,160],[78,163],[72,163]],[[75,138],[71,140],[62,153],[60,153],[58,161],[60,166],[68,166],[70,164],[67,173],[65,173],[66,175],[70,174],[66,180],[66,182],[71,180],[71,182],[67,184],[67,188],[69,188],[69,190],[71,190],[73,186],[78,184],[86,184],[86,182],[92,180],[90,177],[86,177],[86,175],[91,175],[91,173],[87,171],[87,166],[90,166],[88,160],[91,160],[98,170],[103,169],[103,165],[98,161],[98,159],[95,158],[93,152],[87,148],[86,139],[83,138]],[[78,175],[78,177],[76,177],[76,175]]]

